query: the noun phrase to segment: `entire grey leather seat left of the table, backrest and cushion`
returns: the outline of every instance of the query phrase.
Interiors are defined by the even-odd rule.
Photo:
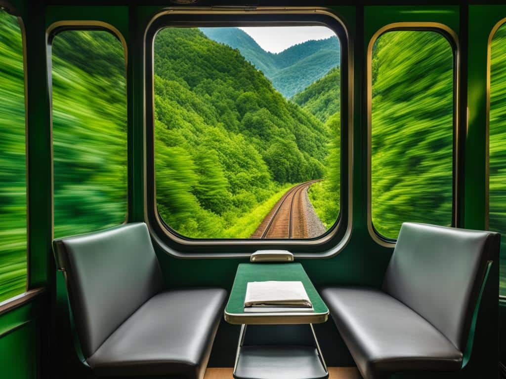
[[[94,374],[203,377],[225,290],[162,291],[144,223],[55,240],[53,246]]]

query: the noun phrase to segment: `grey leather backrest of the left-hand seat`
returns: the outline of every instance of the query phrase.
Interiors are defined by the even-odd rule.
[[[55,240],[53,249],[58,268],[65,273],[85,358],[162,289],[160,267],[144,223]]]

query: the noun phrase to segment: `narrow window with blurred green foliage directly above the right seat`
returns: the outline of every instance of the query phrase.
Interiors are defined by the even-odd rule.
[[[389,31],[372,48],[371,221],[452,224],[454,56],[436,31]]]

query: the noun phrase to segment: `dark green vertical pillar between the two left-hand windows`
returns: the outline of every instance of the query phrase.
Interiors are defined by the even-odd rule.
[[[52,238],[52,162],[49,78],[44,7],[23,15],[26,28],[28,119],[28,288],[50,285],[54,265]]]

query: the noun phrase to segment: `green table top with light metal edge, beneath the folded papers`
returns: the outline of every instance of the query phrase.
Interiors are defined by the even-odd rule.
[[[249,281],[302,281],[313,304],[312,312],[245,313],[244,298]],[[237,267],[232,292],[225,308],[225,319],[230,323],[318,323],[328,318],[328,308],[313,286],[300,263],[241,263]]]

